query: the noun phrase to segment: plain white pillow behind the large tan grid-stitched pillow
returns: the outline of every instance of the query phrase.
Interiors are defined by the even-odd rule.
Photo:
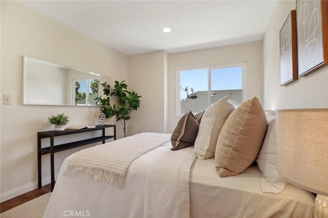
[[[279,193],[285,187],[285,181],[278,173],[276,117],[274,112],[265,112],[268,121],[267,133],[256,158],[261,171],[262,192]]]

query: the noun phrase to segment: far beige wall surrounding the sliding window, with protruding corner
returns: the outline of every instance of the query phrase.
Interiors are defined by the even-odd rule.
[[[177,121],[177,68],[244,63],[243,98],[263,101],[262,42],[167,54],[129,56],[129,88],[141,95],[141,107],[128,123],[129,135],[172,133]]]

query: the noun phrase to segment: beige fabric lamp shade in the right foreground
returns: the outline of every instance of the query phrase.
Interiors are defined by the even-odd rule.
[[[328,196],[328,108],[277,110],[276,128],[279,174]]]

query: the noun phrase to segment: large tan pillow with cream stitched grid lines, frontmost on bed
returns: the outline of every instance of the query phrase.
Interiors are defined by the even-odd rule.
[[[256,97],[242,103],[224,123],[215,150],[220,177],[238,175],[255,160],[267,130],[267,119]]]

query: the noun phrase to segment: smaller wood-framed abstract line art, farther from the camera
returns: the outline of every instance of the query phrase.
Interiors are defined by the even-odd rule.
[[[289,14],[279,32],[280,41],[280,85],[297,80],[297,36],[296,11]]]

